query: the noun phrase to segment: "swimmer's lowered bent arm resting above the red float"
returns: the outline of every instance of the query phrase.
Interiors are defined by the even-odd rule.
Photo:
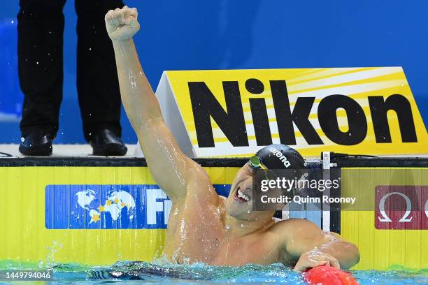
[[[355,244],[322,231],[311,221],[289,219],[279,222],[271,231],[278,235],[283,260],[295,263],[296,271],[321,265],[349,269],[359,262]]]

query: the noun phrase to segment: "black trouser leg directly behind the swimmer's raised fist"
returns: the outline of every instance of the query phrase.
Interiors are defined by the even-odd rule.
[[[113,45],[104,16],[122,8],[121,0],[76,0],[78,14],[78,97],[85,139],[102,129],[121,136],[120,90]]]

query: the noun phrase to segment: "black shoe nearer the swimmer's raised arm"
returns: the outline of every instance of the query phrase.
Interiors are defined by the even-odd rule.
[[[94,155],[122,156],[127,153],[127,147],[113,131],[104,129],[96,131],[90,140]]]

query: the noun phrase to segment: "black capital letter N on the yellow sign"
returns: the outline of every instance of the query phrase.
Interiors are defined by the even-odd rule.
[[[234,147],[248,146],[238,82],[224,81],[225,112],[205,82],[188,82],[199,147],[214,147],[212,117]]]

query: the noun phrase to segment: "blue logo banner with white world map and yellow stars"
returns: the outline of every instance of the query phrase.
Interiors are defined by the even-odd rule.
[[[172,202],[155,184],[45,187],[48,229],[166,228]]]

